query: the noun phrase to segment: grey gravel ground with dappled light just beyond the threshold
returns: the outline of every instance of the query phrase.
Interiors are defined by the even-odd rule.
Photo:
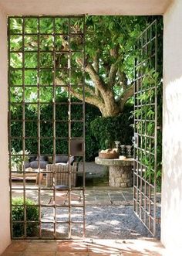
[[[44,213],[45,220],[51,220],[50,211]],[[68,211],[64,208],[57,212],[57,220],[68,220]],[[78,207],[72,210],[72,221],[82,221],[83,210]],[[52,230],[45,224],[45,230]],[[57,227],[58,237],[68,235],[68,225],[60,224]],[[50,234],[50,233],[49,233]],[[72,224],[72,236],[82,237],[82,225]],[[46,235],[45,235],[46,237]],[[88,206],[86,207],[86,237],[99,239],[136,239],[138,237],[151,237],[150,232],[133,213],[130,206]]]

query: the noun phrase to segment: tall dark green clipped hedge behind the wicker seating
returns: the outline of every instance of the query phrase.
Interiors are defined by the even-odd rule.
[[[66,97],[57,98],[58,102],[66,102]],[[72,99],[72,101],[78,101]],[[44,120],[40,124],[40,135],[45,137],[41,139],[41,154],[53,154],[53,123],[52,123],[52,104],[42,104],[41,105],[40,119]],[[72,105],[71,117],[74,120],[81,120],[83,118],[83,106],[82,105]],[[13,108],[11,111],[12,119],[22,120],[22,106]],[[91,104],[86,104],[86,161],[91,161],[98,154],[99,145],[96,143],[96,138],[92,135],[90,130],[90,122],[101,115],[98,108]],[[38,152],[38,126],[37,126],[37,108],[29,108],[25,106],[25,119],[31,121],[25,122],[25,136],[35,137],[25,139],[25,150],[31,154],[37,155]],[[56,105],[56,137],[66,137],[68,136],[68,106],[65,104]],[[22,122],[12,121],[11,123],[11,135],[22,137]],[[72,137],[82,137],[83,135],[83,123],[82,122],[72,122]],[[46,138],[51,137],[51,138]],[[15,152],[20,152],[22,150],[22,140],[12,139],[12,148]],[[68,142],[67,139],[56,139],[56,154],[66,154],[68,153]]]

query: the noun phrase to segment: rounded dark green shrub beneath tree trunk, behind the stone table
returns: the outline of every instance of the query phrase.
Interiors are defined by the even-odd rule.
[[[114,141],[123,145],[132,144],[133,119],[130,118],[132,105],[126,105],[122,114],[116,117],[96,118],[91,122],[91,131],[99,143],[99,148],[106,149],[115,146]]]

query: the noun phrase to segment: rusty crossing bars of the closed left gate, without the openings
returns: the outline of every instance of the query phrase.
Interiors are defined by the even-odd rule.
[[[20,19],[22,22],[22,26],[21,29],[22,31],[13,31],[12,27],[11,27],[11,22],[13,19]],[[37,32],[27,32],[25,29],[25,24],[29,19],[34,19],[37,22]],[[40,22],[42,19],[51,19],[52,20],[52,32],[41,32],[41,28],[40,28]],[[58,32],[56,29],[56,19],[66,19],[68,21],[68,29],[67,32]],[[77,21],[81,21],[82,22],[82,31],[80,32],[72,32],[72,19],[77,20]],[[74,227],[74,225],[79,226],[79,233],[83,234],[83,237],[85,236],[85,85],[84,85],[84,77],[85,77],[85,72],[84,72],[84,68],[85,68],[85,39],[84,39],[84,34],[85,34],[85,17],[84,15],[74,15],[74,16],[9,16],[8,17],[8,145],[9,145],[9,184],[10,184],[10,208],[11,208],[11,212],[10,212],[10,220],[11,220],[11,230],[12,230],[12,239],[57,239],[57,238],[62,238],[62,239],[70,239],[72,238],[72,228]],[[20,47],[21,49],[12,49],[12,45],[11,45],[11,39],[13,36],[20,36],[22,37],[22,47]],[[32,50],[27,50],[25,47],[25,39],[26,36],[30,36],[30,38],[32,38],[32,36],[35,36],[37,38],[37,46],[33,47]],[[51,50],[42,50],[41,47],[41,36],[45,36],[45,38],[48,38],[49,36],[52,36],[52,49]],[[68,38],[68,50],[58,50],[56,48],[56,38],[57,36],[66,36],[66,38]],[[79,49],[71,49],[71,39],[74,38],[74,36],[81,36],[82,38],[82,43],[81,46],[79,45]],[[35,48],[35,49],[34,49]],[[11,54],[19,54],[22,56],[22,67],[11,67]],[[25,56],[26,54],[36,54],[37,56],[37,62],[36,62],[36,67],[26,67],[25,64]],[[44,53],[49,53],[52,56],[52,67],[42,67],[42,63],[41,63],[41,54]],[[64,68],[58,68],[56,67],[56,54],[62,54],[62,53],[66,53],[67,57],[68,57],[68,62],[67,62],[67,67]],[[72,54],[73,53],[81,53],[82,56],[82,67],[72,67],[71,65],[71,60],[72,60]],[[74,102],[72,101],[72,72],[74,72],[75,70],[78,70],[82,73],[82,83],[76,84],[77,87],[82,88],[83,90],[83,101],[79,101],[79,102]],[[16,71],[20,71],[20,73],[22,73],[22,77],[21,80],[22,82],[19,84],[13,84],[12,81],[12,70],[13,72]],[[42,83],[40,83],[41,80],[41,72],[43,71],[47,71],[47,72],[51,72],[52,73],[52,84],[46,84],[43,85]],[[68,80],[66,83],[64,84],[57,84],[56,83],[56,72],[62,70],[64,72],[68,73]],[[37,72],[37,84],[34,84],[34,82],[32,81],[32,83],[30,85],[25,84],[25,72],[30,71],[30,72]],[[26,99],[26,95],[25,95],[25,90],[26,88],[36,88],[37,90],[37,100],[36,101],[27,101]],[[67,92],[68,92],[68,97],[67,97],[67,101],[66,102],[59,102],[56,101],[56,88],[66,88]],[[13,89],[12,89],[13,88]],[[22,101],[12,101],[12,91],[15,89],[18,90],[18,88],[22,88]],[[49,88],[52,88],[52,102],[45,102],[42,101],[42,97],[40,95],[41,93],[41,89],[42,88],[46,88],[47,90]],[[49,104],[52,106],[52,118],[50,118],[49,120],[45,120],[41,117],[41,107],[42,105],[45,104]],[[31,118],[27,118],[26,117],[26,108],[34,105],[36,106],[37,109],[37,118],[36,120],[32,120]],[[68,106],[68,118],[66,120],[62,120],[59,118],[56,118],[56,107],[58,105],[66,105]],[[80,118],[80,120],[76,120],[74,119],[74,117],[72,117],[72,108],[73,106],[76,105],[80,105],[82,108],[82,113],[83,113],[83,117]],[[22,119],[19,118],[12,118],[12,109],[16,108],[17,106],[19,106],[20,108],[22,108]],[[11,131],[11,124],[12,121],[14,122],[20,122],[22,124],[22,135],[12,135],[12,131]],[[37,125],[37,136],[28,136],[26,133],[26,122],[32,122],[32,123],[36,123]],[[52,124],[52,135],[53,136],[43,136],[41,134],[41,125],[42,123],[50,123]],[[23,183],[21,185],[14,186],[12,183],[12,175],[13,173],[16,173],[15,170],[12,169],[12,159],[15,157],[21,157],[22,161],[25,162],[25,158],[27,156],[32,157],[32,156],[37,156],[39,159],[39,168],[35,171],[35,173],[37,173],[37,175],[41,176],[41,174],[46,174],[46,172],[42,172],[42,169],[40,168],[40,157],[41,155],[47,155],[53,156],[53,163],[55,163],[55,156],[59,155],[61,153],[62,148],[60,148],[60,152],[57,152],[56,149],[56,142],[58,139],[64,139],[67,144],[68,144],[68,155],[69,157],[72,156],[71,155],[71,142],[72,139],[75,139],[74,137],[72,137],[72,122],[77,122],[80,124],[83,124],[83,136],[79,137],[79,140],[82,141],[82,145],[83,145],[83,152],[81,154],[81,157],[83,159],[83,184],[82,186],[79,187],[72,187],[71,186],[71,175],[72,175],[72,171],[70,168],[70,159],[69,159],[69,188],[67,189],[67,193],[68,193],[68,204],[59,204],[56,203],[56,183],[55,183],[55,172],[53,172],[53,186],[51,188],[47,188],[45,186],[42,186],[42,184],[40,183],[40,179],[39,183],[37,186],[31,186],[29,187],[29,184],[26,182],[26,175],[29,174],[29,171],[25,170],[25,165],[23,165],[23,169],[22,169],[22,175],[23,175]],[[56,123],[66,123],[68,126],[68,135],[66,136],[58,136],[56,135]],[[13,140],[19,140],[20,142],[22,142],[22,154],[19,153],[12,153],[12,145],[13,145]],[[27,155],[26,152],[26,140],[27,139],[31,139],[31,140],[35,140],[37,142],[37,152],[32,152],[31,154]],[[49,140],[50,142],[52,142],[52,148],[53,148],[53,152],[52,154],[42,154],[42,149],[41,149],[41,145],[42,143],[44,143],[42,141],[42,139],[45,140]],[[77,138],[76,138],[77,139]],[[74,155],[76,156],[76,155]],[[79,153],[79,157],[80,157],[80,153]],[[18,171],[17,171],[18,172]],[[22,194],[23,196],[23,204],[19,205],[19,206],[15,206],[12,204],[12,198],[13,198],[13,193],[15,193],[15,191],[19,192],[20,194]],[[31,207],[36,207],[36,209],[39,210],[39,220],[28,220],[27,219],[27,206],[26,206],[26,198],[28,196],[28,192],[29,191],[35,191],[38,194],[38,200],[36,201],[35,204],[33,204]],[[52,193],[52,204],[48,204],[48,203],[42,203],[42,193],[45,193],[46,191],[49,191]],[[82,197],[82,201],[79,204],[74,204],[72,203],[72,192],[74,191],[79,191],[80,193],[83,193],[83,197]],[[14,207],[14,208],[13,208]],[[17,207],[17,209],[19,207],[22,207],[23,209],[23,220],[13,220],[12,217],[12,209],[15,209],[15,207]],[[45,209],[46,208],[51,208],[52,209],[52,220],[44,220],[42,217],[42,208]],[[58,209],[66,209],[66,211],[68,212],[68,219],[67,220],[59,220],[58,218]],[[72,220],[72,210],[74,209],[81,209],[82,213],[81,213],[81,220],[80,221],[75,221]],[[21,237],[15,237],[13,236],[13,227],[15,224],[20,224],[23,227],[23,235]],[[27,228],[29,227],[30,224],[37,224],[39,226],[39,231],[37,234],[35,234],[35,236],[33,237],[29,237],[29,234],[27,234]],[[42,226],[44,224],[47,225],[51,225],[52,230],[50,235],[44,235],[42,234]],[[66,230],[68,230],[68,232],[66,234],[62,234],[62,236],[58,236],[58,225],[65,225],[64,227],[66,227]],[[20,227],[20,226],[19,226]],[[82,232],[81,232],[82,231]]]

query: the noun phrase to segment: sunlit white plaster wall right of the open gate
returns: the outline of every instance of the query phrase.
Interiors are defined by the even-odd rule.
[[[182,1],[163,17],[163,186],[161,241],[182,255]],[[177,252],[178,251],[178,252]]]

